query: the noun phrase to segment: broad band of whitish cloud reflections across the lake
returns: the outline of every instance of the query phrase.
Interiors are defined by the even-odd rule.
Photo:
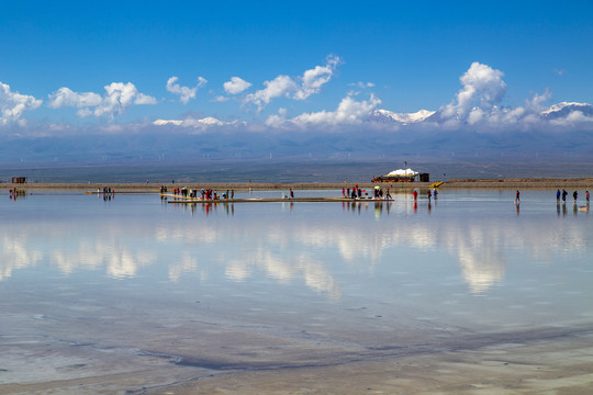
[[[41,264],[58,268],[65,275],[102,270],[114,279],[134,278],[144,267],[165,264],[171,282],[190,274],[205,282],[213,272],[223,272],[232,282],[264,275],[278,284],[300,282],[338,301],[344,294],[336,279],[340,267],[371,273],[396,264],[401,257],[438,251],[444,262],[457,262],[470,292],[483,294],[504,280],[515,251],[551,263],[557,253],[586,250],[591,237],[584,223],[555,223],[539,216],[517,222],[496,213],[467,216],[455,207],[436,210],[434,204],[348,202],[342,203],[342,210],[323,204],[299,208],[292,203],[280,208],[245,204],[240,215],[227,203],[169,204],[163,205],[161,221],[148,215],[157,210],[150,205],[141,217],[134,210],[99,212],[91,225],[81,218],[30,218],[0,229],[0,281],[14,270]],[[302,214],[301,207],[310,211]],[[410,216],[410,210],[416,215]],[[556,210],[566,215],[564,205]],[[574,205],[575,215],[578,211]],[[172,215],[176,212],[183,216]],[[439,217],[444,212],[450,215]],[[357,214],[356,219],[344,213]]]

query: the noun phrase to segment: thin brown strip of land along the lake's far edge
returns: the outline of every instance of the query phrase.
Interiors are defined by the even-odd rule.
[[[434,181],[439,182],[439,181]],[[110,187],[116,193],[158,193],[160,187],[174,188],[186,187],[188,189],[213,189],[213,190],[235,190],[235,191],[281,191],[281,190],[340,190],[358,184],[362,189],[372,189],[380,185],[383,189],[426,189],[432,188],[434,182],[394,182],[394,183],[372,183],[372,182],[187,182],[187,183],[66,183],[66,182],[43,182],[43,183],[1,183],[0,190],[49,190],[49,191],[85,191],[97,192],[103,187]],[[443,182],[438,187],[445,189],[593,189],[593,178],[580,179],[454,179]]]

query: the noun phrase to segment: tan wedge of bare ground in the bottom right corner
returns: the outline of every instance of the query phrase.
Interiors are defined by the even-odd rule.
[[[246,372],[146,394],[591,394],[593,337]]]

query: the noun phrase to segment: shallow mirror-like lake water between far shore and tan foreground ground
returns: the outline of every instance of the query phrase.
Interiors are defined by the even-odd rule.
[[[135,374],[113,393],[591,330],[589,211],[514,196],[0,195],[0,385]]]

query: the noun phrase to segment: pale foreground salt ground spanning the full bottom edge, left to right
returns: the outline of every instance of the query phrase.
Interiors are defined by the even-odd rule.
[[[97,352],[78,345],[72,352],[72,345],[47,341],[45,351],[40,350],[40,345],[32,345],[27,351],[24,339],[13,339],[13,348],[8,340],[3,339],[1,347],[0,361],[4,363],[0,369],[0,394],[584,395],[593,388],[591,330],[523,343],[439,352],[426,349],[413,356],[334,361],[325,366],[210,372],[174,364],[158,354],[139,356],[137,350]],[[88,371],[81,361],[92,361],[92,370]],[[11,375],[13,370],[21,376]]]

